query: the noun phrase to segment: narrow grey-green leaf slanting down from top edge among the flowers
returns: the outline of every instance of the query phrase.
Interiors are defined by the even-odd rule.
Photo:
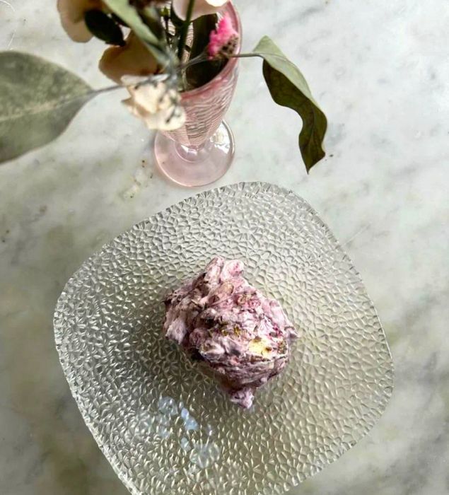
[[[148,50],[151,50],[160,64],[167,62],[167,55],[163,50],[164,40],[159,40],[158,37],[144,23],[136,7],[129,3],[129,0],[103,0],[103,3],[111,9],[129,28],[131,28],[136,36],[146,42]]]

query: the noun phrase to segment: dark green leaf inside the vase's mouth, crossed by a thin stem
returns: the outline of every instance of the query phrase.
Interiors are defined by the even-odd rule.
[[[217,22],[218,16],[216,14],[201,16],[193,21],[193,42],[190,59],[194,59],[204,53],[207,45],[209,45],[209,35],[216,28]],[[223,69],[225,64],[226,60],[218,59],[206,60],[187,67],[185,71],[187,83],[192,88],[199,88],[209,83]]]

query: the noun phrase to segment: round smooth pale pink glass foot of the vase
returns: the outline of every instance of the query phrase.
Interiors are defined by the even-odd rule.
[[[165,177],[185,187],[198,187],[223,177],[234,158],[233,133],[221,122],[215,134],[202,148],[189,148],[156,134],[154,154],[156,163]]]

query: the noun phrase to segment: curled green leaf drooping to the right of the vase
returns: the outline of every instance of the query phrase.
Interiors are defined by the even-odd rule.
[[[327,129],[326,116],[313,99],[301,71],[268,36],[262,37],[253,53],[264,59],[264,78],[273,100],[278,105],[295,110],[303,120],[299,148],[309,172],[325,156],[322,141]]]

